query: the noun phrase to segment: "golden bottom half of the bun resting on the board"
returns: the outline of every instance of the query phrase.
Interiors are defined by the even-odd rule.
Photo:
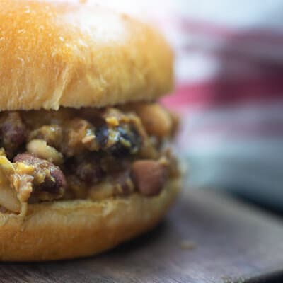
[[[25,218],[0,213],[0,260],[62,260],[113,248],[155,226],[179,183],[169,180],[156,197],[29,204]]]

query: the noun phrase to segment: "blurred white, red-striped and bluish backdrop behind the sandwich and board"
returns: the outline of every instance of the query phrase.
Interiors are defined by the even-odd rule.
[[[89,0],[91,1],[91,0]],[[283,1],[96,1],[154,23],[175,52],[190,187],[283,208]]]

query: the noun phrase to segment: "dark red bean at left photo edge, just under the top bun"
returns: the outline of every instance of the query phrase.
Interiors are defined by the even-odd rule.
[[[1,124],[1,142],[8,157],[23,144],[26,138],[26,127],[18,112],[8,112],[4,122]]]

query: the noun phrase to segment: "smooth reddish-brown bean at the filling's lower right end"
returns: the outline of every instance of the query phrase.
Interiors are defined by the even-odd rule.
[[[158,195],[166,182],[167,168],[153,160],[139,160],[132,164],[132,180],[142,195]]]

